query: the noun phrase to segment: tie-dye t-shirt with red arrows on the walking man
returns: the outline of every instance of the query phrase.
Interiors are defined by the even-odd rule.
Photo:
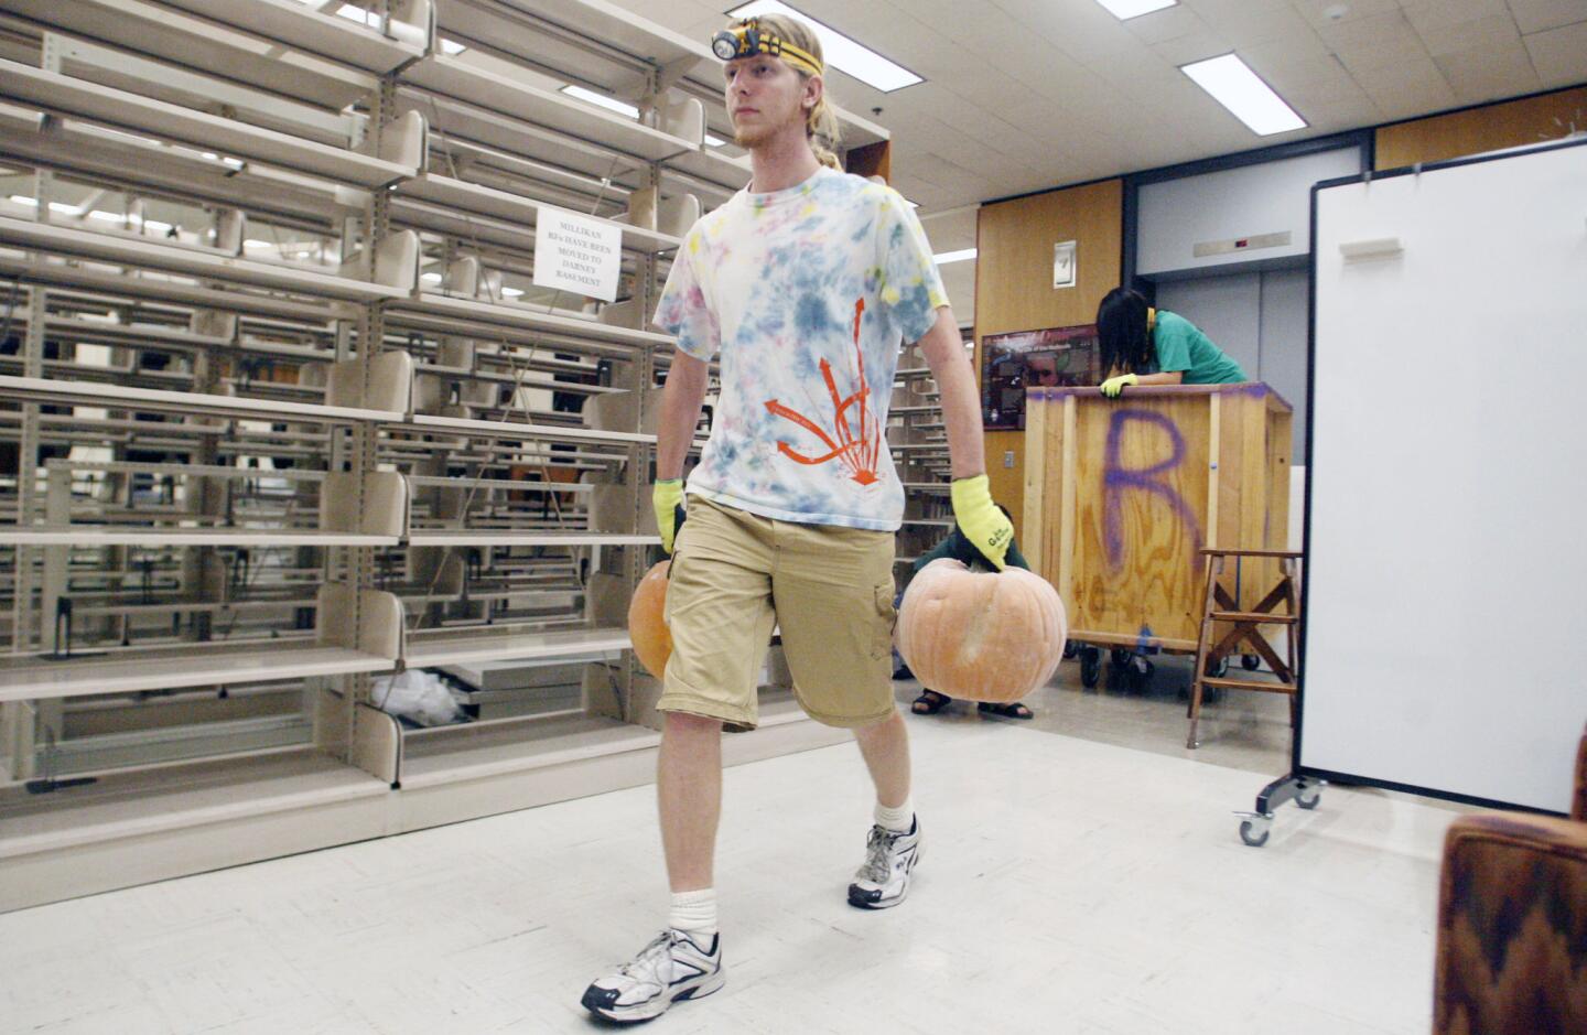
[[[943,305],[925,232],[892,187],[824,167],[701,217],[655,308],[681,351],[722,356],[687,491],[781,521],[898,529],[893,371]]]

